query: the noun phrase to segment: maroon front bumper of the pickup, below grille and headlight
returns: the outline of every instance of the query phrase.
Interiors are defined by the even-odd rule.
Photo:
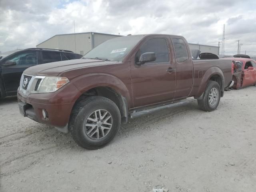
[[[29,94],[28,96],[18,89],[17,96],[22,116],[61,130],[67,129],[72,108],[80,92],[75,86],[69,84],[53,93]],[[47,112],[46,118],[42,110]]]

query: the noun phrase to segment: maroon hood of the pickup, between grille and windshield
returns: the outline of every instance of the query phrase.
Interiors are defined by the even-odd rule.
[[[113,63],[115,62],[98,59],[74,59],[32,66],[30,68],[27,68],[24,71],[24,73],[38,76],[58,76],[58,74],[60,74],[61,72],[68,70],[74,70],[77,68],[85,68],[90,66],[107,65]]]

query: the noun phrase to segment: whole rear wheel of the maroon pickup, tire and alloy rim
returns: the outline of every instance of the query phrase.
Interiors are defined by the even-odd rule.
[[[220,85],[216,81],[209,81],[202,100],[197,100],[198,106],[204,111],[215,110],[220,103]]]

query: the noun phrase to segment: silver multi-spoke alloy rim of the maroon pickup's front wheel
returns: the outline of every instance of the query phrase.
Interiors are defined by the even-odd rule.
[[[99,140],[110,132],[112,124],[113,118],[110,112],[99,109],[88,116],[84,124],[84,130],[89,138]]]

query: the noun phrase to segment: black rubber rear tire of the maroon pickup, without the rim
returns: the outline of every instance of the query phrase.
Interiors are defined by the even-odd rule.
[[[214,105],[210,104],[210,101],[209,101],[209,94],[213,88],[216,88],[218,92],[218,98]],[[197,100],[197,102],[198,102],[199,108],[203,111],[210,112],[215,110],[220,103],[220,85],[216,81],[209,81],[204,91],[202,100]]]

